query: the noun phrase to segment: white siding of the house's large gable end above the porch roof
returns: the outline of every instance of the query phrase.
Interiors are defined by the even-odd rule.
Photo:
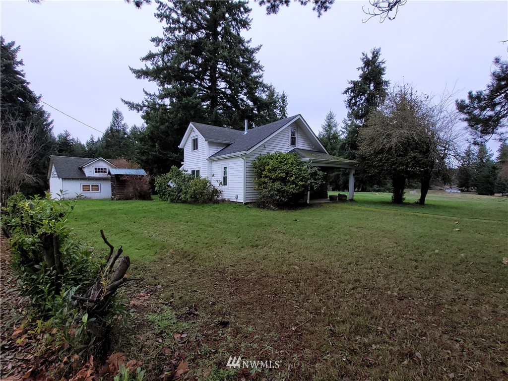
[[[295,124],[292,124],[295,125]],[[321,147],[313,146],[315,143],[312,143],[307,135],[305,134],[306,129],[300,128],[297,126],[297,142],[296,147],[291,146],[289,139],[289,126],[284,130],[279,132],[277,135],[272,137],[266,143],[262,144],[252,152],[250,152],[246,156],[246,175],[245,175],[245,202],[254,202],[258,198],[258,192],[254,190],[256,186],[252,179],[254,178],[254,173],[252,171],[252,161],[256,160],[260,154],[264,155],[267,153],[274,152],[289,152],[293,148],[302,148],[309,150],[321,150]]]

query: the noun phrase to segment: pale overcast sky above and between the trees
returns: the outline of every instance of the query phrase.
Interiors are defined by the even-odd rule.
[[[21,45],[18,58],[30,88],[42,100],[104,131],[119,108],[129,125],[140,125],[139,114],[120,98],[141,101],[143,88],[129,66],[162,33],[155,6],[141,10],[117,1],[2,0],[1,32]],[[495,56],[506,58],[508,2],[408,0],[393,21],[364,23],[365,1],[337,1],[317,18],[310,6],[292,4],[277,15],[251,2],[252,28],[245,36],[263,45],[258,59],[265,81],[288,94],[290,115],[302,114],[317,133],[328,111],[341,122],[346,115],[342,92],[358,78],[362,52],[380,47],[391,83],[411,83],[418,91],[439,94],[445,88],[484,89]],[[97,131],[44,106],[54,119],[56,134],[69,130],[85,142]]]

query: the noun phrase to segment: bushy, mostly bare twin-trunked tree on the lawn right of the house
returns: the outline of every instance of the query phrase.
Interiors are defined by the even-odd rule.
[[[412,88],[396,86],[360,133],[359,158],[367,171],[392,180],[393,202],[402,203],[407,179],[420,180],[420,204],[433,178],[446,181],[458,151],[459,121],[455,93],[443,92],[438,102]]]

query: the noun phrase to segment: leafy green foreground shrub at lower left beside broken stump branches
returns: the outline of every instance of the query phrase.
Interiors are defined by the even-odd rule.
[[[46,327],[44,337],[53,344],[94,352],[98,346],[92,343],[107,342],[118,314],[126,310],[114,297],[101,311],[76,302],[102,275],[105,259],[79,244],[68,227],[67,217],[78,201],[49,196],[27,199],[19,193],[2,207],[11,264],[19,290],[29,300],[26,318],[35,332]]]

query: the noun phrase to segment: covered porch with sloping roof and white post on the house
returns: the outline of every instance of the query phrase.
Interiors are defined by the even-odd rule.
[[[302,162],[306,162],[312,167],[326,167],[349,169],[349,189],[347,200],[353,201],[355,198],[355,169],[358,167],[358,162],[347,160],[342,157],[329,155],[324,152],[310,151],[307,149],[295,148],[290,152],[294,152],[300,157]],[[310,203],[310,190],[307,192],[307,204]]]

